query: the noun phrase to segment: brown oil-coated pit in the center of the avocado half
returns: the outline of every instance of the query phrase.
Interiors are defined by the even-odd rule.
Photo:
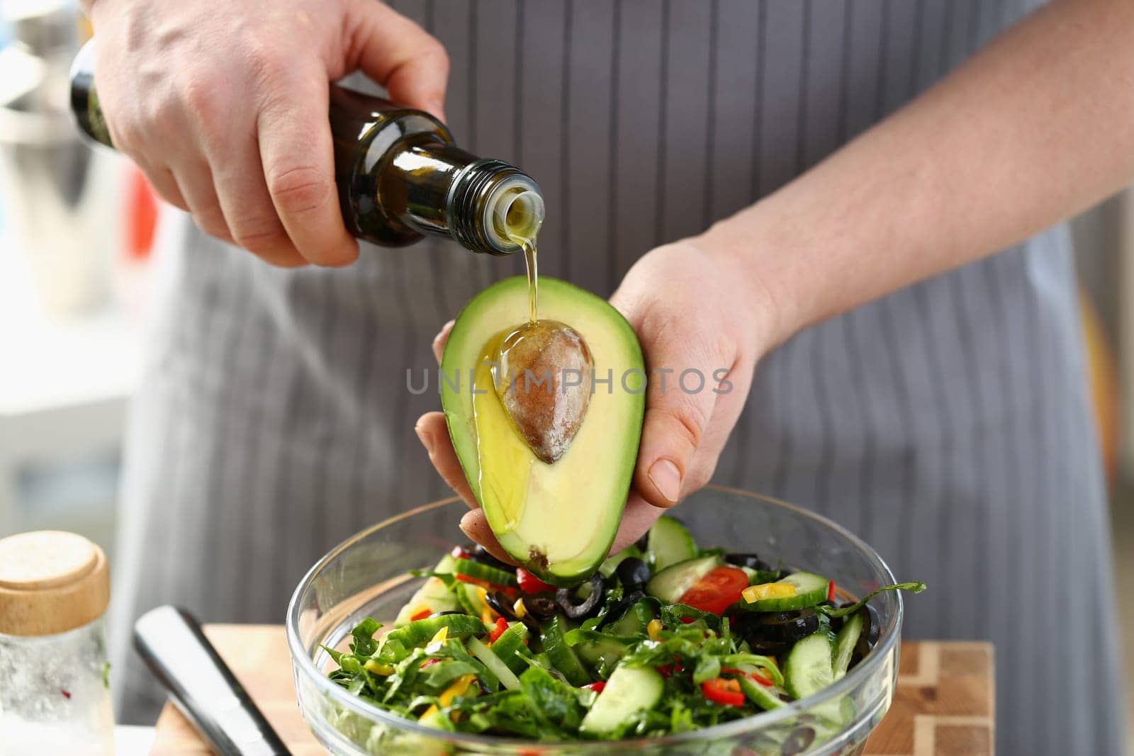
[[[583,425],[593,368],[583,337],[558,321],[526,323],[500,343],[497,396],[532,452],[548,465],[567,452]]]

